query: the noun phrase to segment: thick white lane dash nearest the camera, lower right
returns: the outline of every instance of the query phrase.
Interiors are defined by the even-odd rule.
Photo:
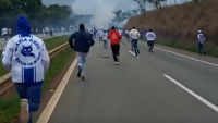
[[[166,78],[168,78],[169,81],[171,81],[172,83],[174,83],[175,85],[178,85],[179,87],[181,87],[183,90],[185,90],[186,93],[189,93],[190,95],[192,95],[193,97],[195,97],[196,99],[198,99],[199,101],[202,101],[203,103],[205,103],[206,106],[208,106],[209,108],[211,108],[213,110],[215,110],[216,112],[218,112],[218,107],[215,106],[214,103],[207,101],[206,99],[204,99],[203,97],[201,97],[199,95],[195,94],[193,90],[189,89],[187,87],[185,87],[184,85],[182,85],[181,83],[179,83],[178,81],[173,79],[172,77],[170,77],[169,75],[164,74],[164,76]]]

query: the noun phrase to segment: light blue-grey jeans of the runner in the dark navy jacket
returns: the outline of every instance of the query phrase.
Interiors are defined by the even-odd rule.
[[[78,66],[82,69],[81,75],[85,76],[87,53],[83,53],[83,52],[77,51],[76,58],[77,58]]]

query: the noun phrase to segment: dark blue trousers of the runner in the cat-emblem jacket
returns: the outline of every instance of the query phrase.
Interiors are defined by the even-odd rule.
[[[15,85],[16,91],[19,93],[20,98],[28,100],[29,113],[38,111],[40,98],[41,98],[43,82],[31,83],[31,84],[16,83],[14,85]],[[33,123],[31,114],[29,114],[28,123]]]

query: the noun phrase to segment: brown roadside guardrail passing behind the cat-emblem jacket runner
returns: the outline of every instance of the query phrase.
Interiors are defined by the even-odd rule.
[[[55,56],[62,52],[66,48],[69,48],[68,42],[50,50],[49,51],[50,59],[52,59]],[[14,89],[13,85],[14,84],[11,82],[11,74],[10,73],[0,77],[0,98],[14,94],[15,89]]]

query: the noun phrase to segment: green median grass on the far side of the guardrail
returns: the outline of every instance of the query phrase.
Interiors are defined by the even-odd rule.
[[[68,41],[69,36],[60,36],[60,37],[53,37],[53,38],[49,38],[49,39],[45,39],[45,44],[46,44],[46,48],[47,50],[51,50],[64,42]],[[0,51],[0,53],[2,53],[2,51]],[[2,64],[0,65],[0,76],[5,75],[7,72],[4,71]]]

